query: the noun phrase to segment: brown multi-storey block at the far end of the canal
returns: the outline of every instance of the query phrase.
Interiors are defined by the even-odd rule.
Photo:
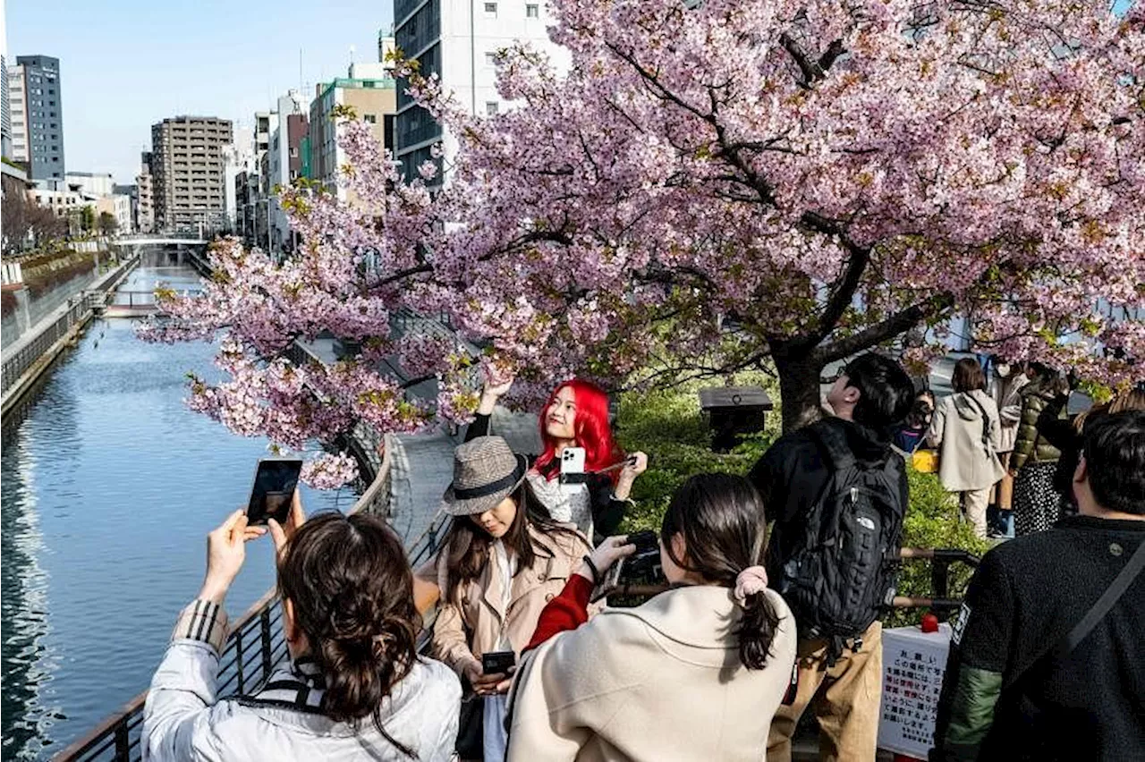
[[[231,122],[174,117],[151,126],[151,174],[158,230],[208,235],[226,229],[223,148]]]

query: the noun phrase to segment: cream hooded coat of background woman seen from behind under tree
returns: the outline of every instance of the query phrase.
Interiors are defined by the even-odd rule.
[[[984,427],[989,451],[982,446]],[[986,489],[1001,479],[1004,471],[995,454],[1002,444],[1001,432],[997,405],[985,391],[960,392],[940,402],[926,438],[932,447],[939,447],[938,476],[942,486],[964,492]]]

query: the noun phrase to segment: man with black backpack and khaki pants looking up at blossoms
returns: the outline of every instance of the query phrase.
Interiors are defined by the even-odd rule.
[[[834,412],[768,449],[751,481],[774,521],[771,586],[799,630],[791,688],[772,721],[768,762],[789,762],[811,705],[822,760],[875,759],[883,651],[878,616],[894,595],[890,559],[907,509],[907,473],[892,427],[914,402],[894,360],[862,355],[828,392]]]

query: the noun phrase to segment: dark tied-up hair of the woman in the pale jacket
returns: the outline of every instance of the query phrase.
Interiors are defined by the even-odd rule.
[[[310,644],[325,681],[322,711],[335,722],[378,731],[381,704],[417,659],[420,617],[401,541],[366,515],[322,514],[299,527],[278,564],[278,589]]]

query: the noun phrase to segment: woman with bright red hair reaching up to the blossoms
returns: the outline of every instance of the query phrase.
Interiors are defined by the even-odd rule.
[[[488,436],[489,421],[513,379],[487,379],[477,416],[466,442]],[[635,478],[648,467],[642,452],[625,458],[608,424],[608,395],[591,381],[572,379],[558,386],[540,414],[544,450],[530,457],[527,475],[534,493],[559,522],[577,525],[586,537],[609,537],[624,517]],[[561,454],[567,447],[584,449],[586,481],[561,484]]]

